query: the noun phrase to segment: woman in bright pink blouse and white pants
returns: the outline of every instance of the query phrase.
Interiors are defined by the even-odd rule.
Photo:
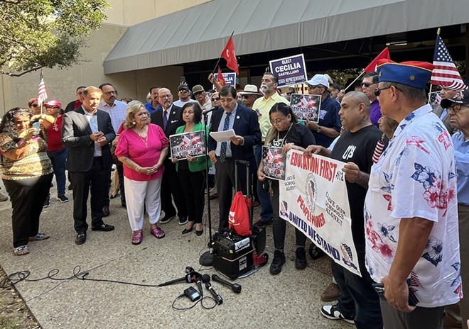
[[[161,176],[169,141],[159,126],[150,123],[144,104],[136,103],[127,108],[125,125],[126,130],[119,135],[115,154],[124,164],[132,244],[138,245],[144,238],[144,206],[149,214],[150,233],[158,239],[164,237],[163,230],[156,223],[160,219]]]

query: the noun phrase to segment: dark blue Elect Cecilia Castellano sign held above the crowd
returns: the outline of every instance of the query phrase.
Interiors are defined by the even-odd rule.
[[[308,80],[303,54],[271,60],[269,66],[270,72],[279,78],[279,88],[302,84]]]

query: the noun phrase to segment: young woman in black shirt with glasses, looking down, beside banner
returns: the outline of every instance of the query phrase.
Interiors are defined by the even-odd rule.
[[[284,103],[276,103],[269,111],[270,122],[272,127],[267,133],[265,144],[266,146],[281,147],[284,153],[291,149],[304,151],[308,145],[315,145],[316,140],[314,139],[311,130],[306,126],[298,123],[298,119],[291,110],[289,105]],[[259,165],[257,171],[257,178],[259,181],[268,179],[264,174],[263,162]],[[269,179],[269,185],[271,186],[271,201],[272,208],[274,210],[274,222],[272,230],[274,233],[274,260],[270,265],[271,274],[279,274],[281,267],[285,264],[285,231],[286,221],[279,216],[279,181]],[[295,267],[297,269],[305,269],[307,266],[306,262],[306,236],[295,228],[296,233],[296,257]]]

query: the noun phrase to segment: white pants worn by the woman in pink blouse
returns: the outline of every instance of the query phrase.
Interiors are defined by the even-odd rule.
[[[140,182],[124,177],[127,216],[131,230],[144,227],[144,205],[151,224],[156,224],[161,213],[161,178]]]

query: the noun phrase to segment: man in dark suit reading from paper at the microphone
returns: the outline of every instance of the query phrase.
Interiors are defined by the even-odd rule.
[[[218,204],[220,206],[219,230],[228,228],[228,214],[233,199],[234,160],[249,161],[250,174],[257,172],[254,145],[261,143],[261,129],[257,121],[256,111],[237,103],[236,89],[225,86],[220,90],[220,104],[212,114],[211,131],[234,130],[234,137],[230,142],[217,142],[209,138],[209,157],[215,164],[215,178],[217,181]],[[239,167],[239,186],[244,194],[246,189],[246,172]],[[251,194],[251,191],[249,191]]]

